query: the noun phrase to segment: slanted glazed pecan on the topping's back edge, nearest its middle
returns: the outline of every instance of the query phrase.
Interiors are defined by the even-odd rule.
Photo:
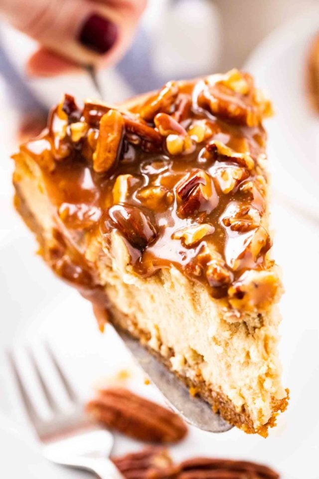
[[[140,115],[146,121],[152,121],[160,111],[170,113],[170,108],[178,95],[178,84],[169,81],[156,97],[152,97],[142,106]]]

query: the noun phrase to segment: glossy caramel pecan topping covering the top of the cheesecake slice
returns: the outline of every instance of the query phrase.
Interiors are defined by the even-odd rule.
[[[57,224],[75,244],[85,233],[107,248],[117,230],[137,274],[174,265],[213,297],[231,291],[240,301],[245,272],[271,267],[261,124],[270,114],[237,70],[169,82],[130,109],[94,101],[80,109],[65,95],[21,153],[40,166]],[[94,289],[83,251],[73,256],[72,267],[63,256],[55,270]]]

